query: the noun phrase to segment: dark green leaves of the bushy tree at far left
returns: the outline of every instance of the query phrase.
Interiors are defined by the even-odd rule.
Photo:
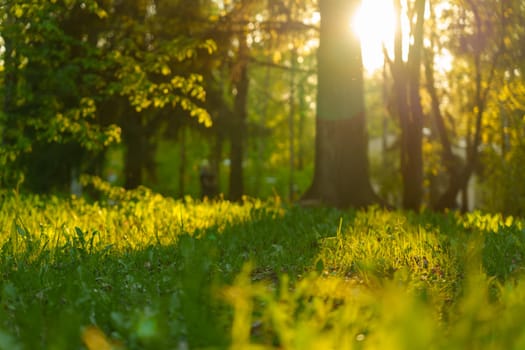
[[[107,17],[94,1],[85,2],[83,9],[93,25]],[[31,151],[34,139],[75,140],[87,149],[117,141],[115,126],[94,123],[102,91],[93,90],[102,90],[101,72],[110,64],[101,62],[100,50],[64,28],[61,22],[71,19],[72,11],[56,1],[14,1],[2,11],[3,139],[8,146],[2,149],[2,164],[20,151]]]

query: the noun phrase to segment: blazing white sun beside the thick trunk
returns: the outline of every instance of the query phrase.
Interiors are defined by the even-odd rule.
[[[383,67],[383,45],[389,52],[394,46],[396,18],[391,0],[362,0],[351,19],[351,29],[361,39],[363,65],[367,72]],[[402,23],[404,26],[405,23]]]

